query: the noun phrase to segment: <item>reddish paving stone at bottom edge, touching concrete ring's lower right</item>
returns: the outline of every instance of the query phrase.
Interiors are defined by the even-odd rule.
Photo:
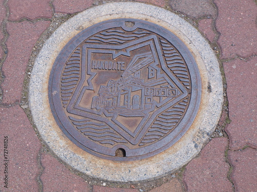
[[[183,180],[188,191],[233,191],[227,178],[229,164],[225,162],[227,138],[212,139],[186,167]]]

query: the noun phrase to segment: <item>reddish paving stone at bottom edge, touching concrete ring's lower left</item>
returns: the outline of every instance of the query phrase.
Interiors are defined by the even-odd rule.
[[[43,191],[84,191],[89,192],[89,184],[81,177],[72,174],[65,165],[49,154],[41,154],[41,164],[44,168],[40,177]],[[57,184],[58,183],[58,184]]]

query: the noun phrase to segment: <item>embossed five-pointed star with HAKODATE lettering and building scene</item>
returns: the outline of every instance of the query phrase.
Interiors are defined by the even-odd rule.
[[[123,45],[86,43],[81,53],[81,79],[67,111],[108,124],[132,144],[157,115],[188,95],[167,68],[156,35]],[[120,78],[112,79],[117,71]],[[109,78],[103,79],[103,72]],[[83,97],[92,98],[86,107]]]

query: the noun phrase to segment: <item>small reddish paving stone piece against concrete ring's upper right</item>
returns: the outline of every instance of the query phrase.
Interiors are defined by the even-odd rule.
[[[198,23],[198,28],[199,30],[205,34],[205,36],[211,41],[213,42],[214,38],[215,38],[215,33],[212,30],[212,19],[203,19],[203,20],[199,20]]]

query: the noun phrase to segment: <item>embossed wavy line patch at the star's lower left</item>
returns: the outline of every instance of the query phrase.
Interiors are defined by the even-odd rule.
[[[116,143],[127,143],[106,123],[93,122],[89,119],[76,119],[69,117],[78,131],[84,134],[87,138],[99,142],[101,144],[114,145]]]

